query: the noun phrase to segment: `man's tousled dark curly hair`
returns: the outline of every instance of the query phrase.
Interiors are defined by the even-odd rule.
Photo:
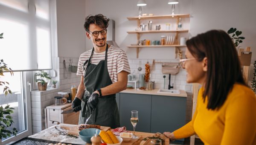
[[[88,15],[85,18],[84,29],[85,29],[85,31],[88,32],[90,24],[95,24],[102,29],[107,29],[108,21],[109,21],[109,19],[107,17],[103,16],[102,14],[96,14],[95,16]]]

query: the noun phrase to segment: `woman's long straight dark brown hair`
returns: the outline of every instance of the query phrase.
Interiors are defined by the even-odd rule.
[[[235,83],[246,86],[236,47],[226,32],[211,30],[199,34],[186,41],[186,46],[197,61],[207,58],[203,94],[204,101],[208,99],[207,109],[220,108]]]

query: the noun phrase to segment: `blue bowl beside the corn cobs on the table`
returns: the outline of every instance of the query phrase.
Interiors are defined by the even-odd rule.
[[[87,143],[91,143],[90,138],[95,134],[99,135],[100,130],[96,128],[87,128],[79,131],[80,138]]]

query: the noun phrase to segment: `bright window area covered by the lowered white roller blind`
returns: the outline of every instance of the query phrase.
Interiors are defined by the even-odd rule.
[[[12,70],[52,68],[49,0],[0,0],[0,53]]]

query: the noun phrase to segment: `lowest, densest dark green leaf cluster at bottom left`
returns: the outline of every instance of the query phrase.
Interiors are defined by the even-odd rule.
[[[0,139],[7,138],[13,134],[16,136],[17,129],[13,128],[12,131],[9,131],[7,128],[10,127],[13,123],[11,113],[13,113],[12,107],[10,105],[7,105],[3,108],[3,106],[0,107]]]

